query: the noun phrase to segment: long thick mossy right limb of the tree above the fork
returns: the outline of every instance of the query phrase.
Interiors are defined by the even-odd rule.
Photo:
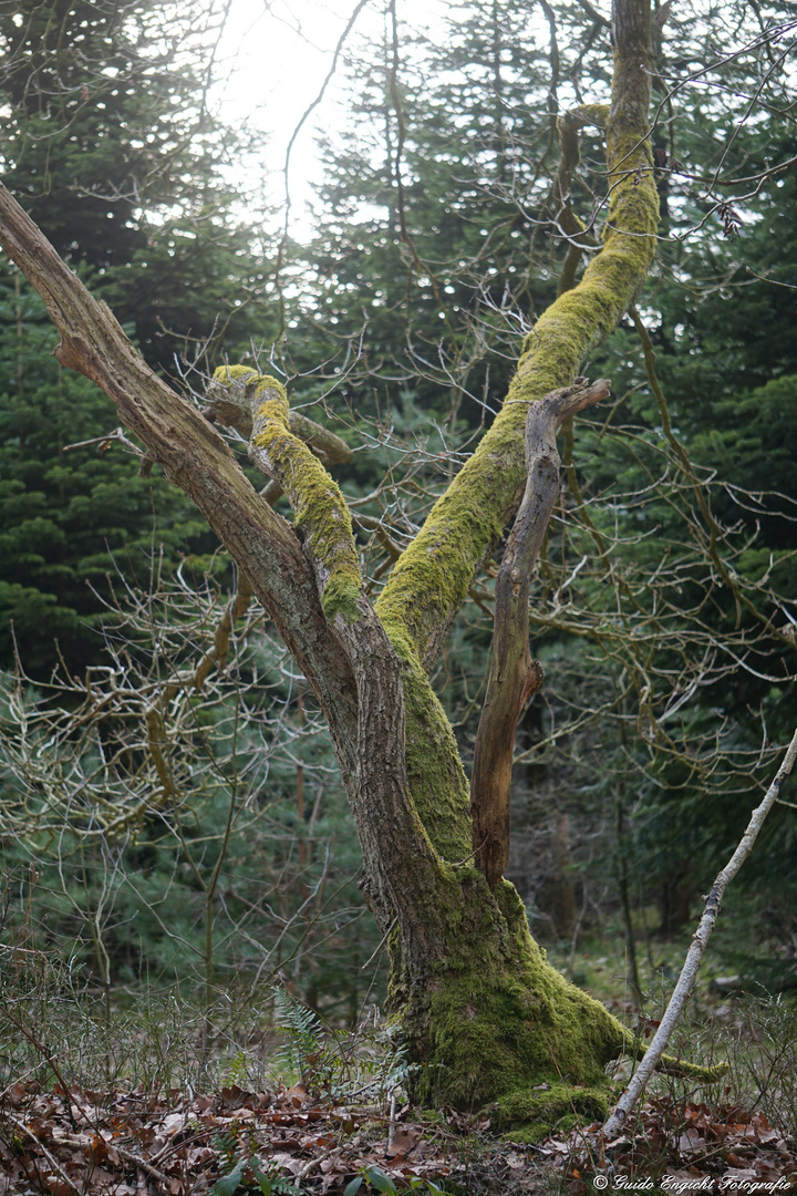
[[[526,337],[492,427],[396,563],[376,604],[380,618],[406,628],[427,666],[520,500],[527,404],[572,384],[584,356],[634,303],[652,262],[658,193],[646,116],[649,13],[638,32],[638,39],[634,33],[615,54],[606,134],[609,197],[603,249],[578,285],[562,294]],[[600,105],[593,116],[602,118]]]

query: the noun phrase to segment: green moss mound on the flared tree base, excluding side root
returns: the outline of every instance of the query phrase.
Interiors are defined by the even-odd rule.
[[[523,1102],[544,1119],[552,1091],[557,1100],[574,1090],[588,1092],[590,1107],[599,1096],[606,1103],[603,1067],[623,1046],[619,1021],[551,966],[511,885],[502,883],[493,898],[472,867],[460,869],[458,884],[462,899],[446,910],[450,956],[415,1012],[424,1061],[418,1098],[501,1105],[505,1125]]]

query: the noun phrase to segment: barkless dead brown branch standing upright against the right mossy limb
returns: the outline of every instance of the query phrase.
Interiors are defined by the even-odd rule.
[[[526,493],[496,578],[495,628],[488,692],[473,752],[471,817],[477,867],[492,889],[509,860],[509,797],[515,728],[542,684],[542,667],[528,648],[528,592],[553,504],[559,493],[557,432],[570,416],[609,393],[601,379],[551,391],[533,403],[526,421]]]

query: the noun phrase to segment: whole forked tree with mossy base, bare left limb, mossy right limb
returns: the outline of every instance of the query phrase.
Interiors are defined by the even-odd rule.
[[[529,404],[574,383],[632,304],[654,256],[649,0],[615,0],[613,32],[611,109],[584,109],[568,123],[606,126],[603,246],[529,332],[502,411],[375,608],[362,592],[345,501],[289,417],[281,385],[243,367],[223,370],[216,414],[235,422],[238,411],[251,428],[252,460],[288,494],[293,526],[259,498],[211,425],[154,378],[0,189],[0,238],[48,304],[60,360],[105,389],[194,499],[329,719],[362,842],[363,890],[390,932],[391,1008],[423,1064],[419,1099],[489,1106],[503,1127],[599,1112],[603,1068],[624,1032],[551,968],[499,868],[488,883],[477,867],[468,782],[428,670],[517,508]]]

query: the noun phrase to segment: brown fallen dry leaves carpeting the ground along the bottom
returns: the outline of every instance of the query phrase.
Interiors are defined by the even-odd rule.
[[[301,1086],[190,1097],[18,1082],[0,1096],[0,1196],[202,1196],[235,1167],[241,1192],[260,1190],[259,1176],[302,1196],[335,1196],[374,1167],[398,1191],[434,1191],[427,1182],[448,1177],[468,1196],[546,1192],[552,1180],[581,1196],[597,1176],[611,1190],[626,1186],[620,1176],[664,1191],[797,1190],[795,1145],[764,1113],[670,1098],[650,1100],[613,1142],[594,1124],[522,1147],[490,1137],[485,1118],[424,1122],[407,1106],[390,1121]]]

